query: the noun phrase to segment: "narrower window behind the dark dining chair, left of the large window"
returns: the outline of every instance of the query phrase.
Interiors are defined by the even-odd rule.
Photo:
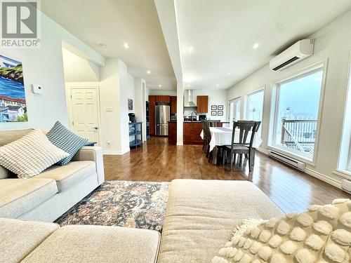
[[[263,99],[265,97],[265,90],[260,89],[247,95],[246,120],[248,121],[262,121],[263,117]],[[262,125],[258,133],[261,133]]]

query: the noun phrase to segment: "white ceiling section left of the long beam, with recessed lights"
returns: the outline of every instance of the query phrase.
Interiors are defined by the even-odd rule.
[[[41,0],[41,10],[100,55],[126,62],[148,88],[176,88],[154,1]]]

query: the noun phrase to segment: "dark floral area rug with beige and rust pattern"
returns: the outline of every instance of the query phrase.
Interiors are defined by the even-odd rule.
[[[55,222],[162,231],[168,182],[106,181]]]

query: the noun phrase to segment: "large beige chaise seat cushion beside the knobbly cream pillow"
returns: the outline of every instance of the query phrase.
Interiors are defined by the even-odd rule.
[[[242,220],[282,216],[251,182],[173,180],[159,262],[211,262]]]

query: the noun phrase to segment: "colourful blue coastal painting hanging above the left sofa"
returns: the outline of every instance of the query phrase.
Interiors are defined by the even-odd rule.
[[[28,121],[22,62],[0,54],[0,123]]]

